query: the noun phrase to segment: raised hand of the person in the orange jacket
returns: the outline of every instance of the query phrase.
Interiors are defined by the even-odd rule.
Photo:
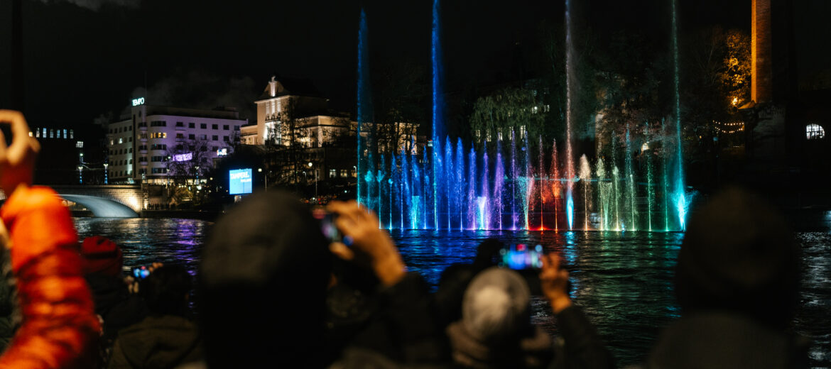
[[[20,111],[0,110],[0,124],[12,125],[12,145],[0,131],[0,189],[11,196],[17,187],[32,185],[35,157],[41,145],[29,136],[29,126]]]

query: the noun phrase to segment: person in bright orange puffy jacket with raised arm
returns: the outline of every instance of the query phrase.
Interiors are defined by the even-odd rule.
[[[81,274],[78,237],[57,193],[32,186],[37,140],[22,114],[0,110],[12,143],[0,132],[0,239],[10,249],[22,324],[2,368],[90,367],[101,334],[91,293]]]

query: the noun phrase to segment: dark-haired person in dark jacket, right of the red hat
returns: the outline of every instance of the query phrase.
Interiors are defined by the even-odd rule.
[[[188,315],[190,274],[182,267],[156,268],[142,283],[150,315],[119,332],[109,368],[173,368],[203,358],[202,339]]]

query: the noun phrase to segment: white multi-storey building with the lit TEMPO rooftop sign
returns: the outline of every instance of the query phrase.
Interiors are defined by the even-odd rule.
[[[204,141],[209,162],[228,152],[238,139],[240,127],[248,121],[230,109],[184,109],[148,106],[135,99],[120,121],[107,129],[109,177],[111,183],[145,180],[162,184],[168,180],[170,151],[176,145],[187,150],[189,142]],[[170,150],[169,150],[170,149]],[[225,149],[225,150],[223,150]],[[200,171],[208,168],[200,169]]]

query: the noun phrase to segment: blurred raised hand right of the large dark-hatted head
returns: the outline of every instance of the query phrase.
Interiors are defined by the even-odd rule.
[[[401,255],[390,235],[379,229],[380,223],[375,214],[355,201],[332,201],[327,209],[338,215],[335,225],[349,244],[332,244],[332,253],[346,259],[366,256],[376,276],[386,286],[396,284],[404,278],[406,268]]]

